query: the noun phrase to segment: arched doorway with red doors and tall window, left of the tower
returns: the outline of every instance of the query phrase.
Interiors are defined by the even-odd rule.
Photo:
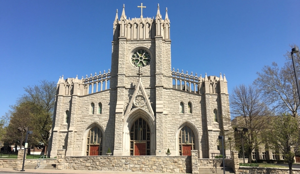
[[[99,127],[92,127],[87,136],[86,155],[102,155],[103,134]]]

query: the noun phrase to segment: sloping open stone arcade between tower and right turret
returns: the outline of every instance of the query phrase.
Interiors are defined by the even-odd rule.
[[[191,74],[188,74],[187,71],[184,74],[183,70],[180,73],[178,69],[176,72],[176,71],[174,71],[174,68],[173,68],[173,71],[172,71],[173,88],[200,94],[199,89],[200,89],[201,82],[202,82],[201,75],[200,75],[200,77],[198,77],[197,73],[196,73],[194,76],[193,72],[191,72]]]

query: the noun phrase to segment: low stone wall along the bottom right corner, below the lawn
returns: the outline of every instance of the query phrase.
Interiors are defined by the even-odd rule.
[[[293,173],[299,173],[300,169],[293,169]],[[288,168],[267,168],[267,167],[248,167],[239,166],[237,174],[255,173],[255,174],[289,174]]]

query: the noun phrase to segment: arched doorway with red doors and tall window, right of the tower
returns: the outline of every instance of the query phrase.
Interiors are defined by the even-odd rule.
[[[195,134],[189,126],[184,126],[179,132],[179,154],[191,155],[191,150],[195,150]]]

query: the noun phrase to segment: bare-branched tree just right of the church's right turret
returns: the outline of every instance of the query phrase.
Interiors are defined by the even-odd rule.
[[[249,155],[248,162],[252,160],[252,150],[262,142],[261,130],[266,128],[270,112],[261,102],[258,90],[253,85],[239,85],[234,87],[230,96],[231,115],[235,117],[233,124],[239,128],[247,128],[245,147]]]

